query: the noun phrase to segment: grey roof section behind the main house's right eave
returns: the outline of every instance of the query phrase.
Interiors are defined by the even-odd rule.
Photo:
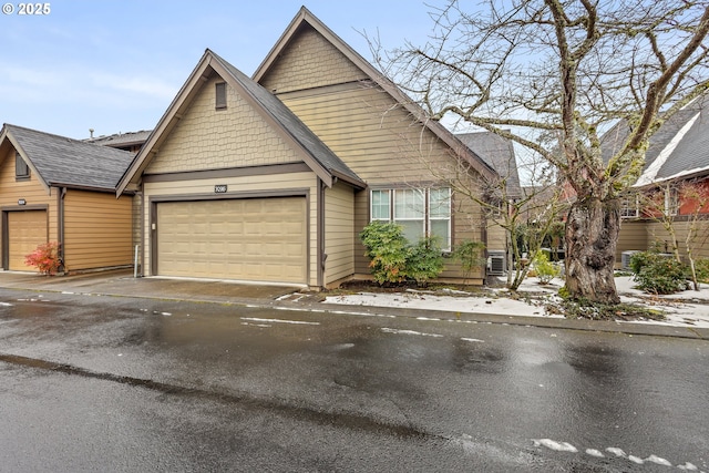
[[[461,133],[455,136],[490,167],[495,169],[501,178],[507,179],[508,197],[522,197],[517,161],[514,154],[514,145],[510,140],[492,132]]]

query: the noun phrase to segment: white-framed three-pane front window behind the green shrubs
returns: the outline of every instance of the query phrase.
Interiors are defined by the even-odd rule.
[[[439,237],[443,249],[450,249],[450,188],[374,189],[371,192],[370,203],[371,219],[401,225],[403,235],[410,243],[430,235]]]

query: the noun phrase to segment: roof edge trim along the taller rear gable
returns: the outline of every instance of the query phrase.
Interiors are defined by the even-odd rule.
[[[412,116],[414,116],[423,126],[429,128],[438,138],[444,142],[459,157],[467,160],[472,167],[485,178],[496,178],[495,169],[491,167],[484,160],[477,156],[472,150],[461,143],[449,130],[439,122],[427,116],[421,106],[414,103],[407,94],[404,94],[391,80],[382,75],[374,66],[363,59],[349,44],[335,34],[325,23],[315,17],[307,8],[301,7],[298,14],[292,19],[284,34],[278,39],[274,48],[270,50],[266,59],[258,66],[253,79],[260,83],[268,74],[271,66],[278,60],[281,52],[288,47],[291,39],[298,31],[309,25],[329,41],[337,50],[339,50],[349,61],[359,68],[371,81],[379,88],[391,95],[401,106],[403,106]]]

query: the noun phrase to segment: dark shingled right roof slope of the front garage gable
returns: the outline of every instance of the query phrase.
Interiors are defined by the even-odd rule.
[[[366,187],[362,179],[352,169],[350,169],[342,160],[332,153],[332,151],[330,151],[330,148],[322,143],[320,138],[318,138],[316,134],[312,133],[312,131],[310,131],[310,128],[307,127],[306,124],[302,123],[300,119],[298,119],[296,114],[280,101],[280,99],[268,92],[260,84],[245,75],[242,71],[226,62],[219,55],[214,52],[212,52],[212,54],[217,61],[222,62],[224,68],[229,71],[234,79],[261,104],[264,110],[270,113],[271,116],[281,124],[284,130],[290,133],[290,135],[300,143],[302,147],[310,151],[312,157],[315,157],[322,167],[338,177],[348,177],[349,182],[359,183],[362,184],[362,187]]]

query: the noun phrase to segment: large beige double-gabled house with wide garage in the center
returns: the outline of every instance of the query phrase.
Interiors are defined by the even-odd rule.
[[[490,244],[431,173],[453,156],[496,176],[302,8],[253,79],[205,52],[117,194],[143,202],[144,275],[329,287],[369,276],[373,219]]]

